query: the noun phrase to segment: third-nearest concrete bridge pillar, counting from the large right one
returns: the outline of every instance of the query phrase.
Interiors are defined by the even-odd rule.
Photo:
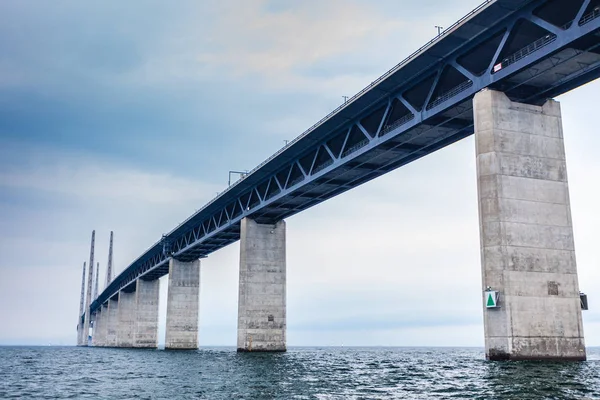
[[[169,261],[169,295],[165,349],[198,348],[200,260]]]

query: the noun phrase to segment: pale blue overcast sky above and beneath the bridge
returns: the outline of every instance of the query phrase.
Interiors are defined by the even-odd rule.
[[[479,2],[0,2],[0,344],[74,344],[92,229],[104,283],[111,230],[120,272]],[[559,98],[596,346],[599,90]],[[472,137],[287,237],[288,345],[483,345]],[[238,262],[238,244],[202,261],[200,345],[236,343]]]

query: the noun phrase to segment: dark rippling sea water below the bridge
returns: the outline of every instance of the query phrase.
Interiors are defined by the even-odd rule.
[[[600,399],[600,349],[588,358],[498,363],[477,348],[0,347],[0,399]]]

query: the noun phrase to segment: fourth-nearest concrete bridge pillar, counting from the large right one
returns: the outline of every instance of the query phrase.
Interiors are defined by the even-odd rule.
[[[138,279],[135,289],[135,333],[133,347],[158,347],[158,279],[145,281]]]

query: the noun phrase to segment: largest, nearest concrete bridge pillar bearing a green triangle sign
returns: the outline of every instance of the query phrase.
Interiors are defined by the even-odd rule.
[[[486,357],[585,360],[560,104],[485,90],[474,113]]]

